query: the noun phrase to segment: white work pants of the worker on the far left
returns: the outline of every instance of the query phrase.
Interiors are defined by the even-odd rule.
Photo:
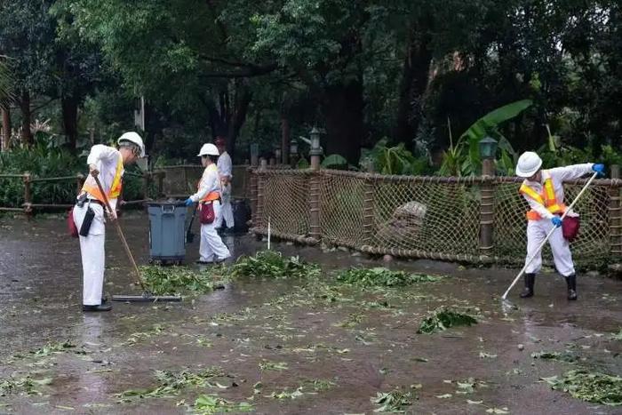
[[[78,230],[82,227],[88,206],[89,203],[87,202],[83,207],[77,205],[74,207],[74,222]],[[82,303],[84,306],[99,306],[101,304],[101,292],[104,288],[106,226],[104,225],[104,208],[100,204],[92,203],[91,209],[95,212],[95,217],[92,220],[89,235],[80,236],[84,287]]]

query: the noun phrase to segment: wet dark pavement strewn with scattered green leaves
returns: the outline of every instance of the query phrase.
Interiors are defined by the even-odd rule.
[[[146,264],[147,217],[132,213],[122,225]],[[407,413],[616,413],[539,379],[578,367],[622,375],[622,340],[610,339],[622,327],[620,281],[579,275],[579,299],[569,302],[560,276],[539,275],[536,297],[518,299],[519,284],[511,293],[517,307],[502,307],[499,296],[515,269],[397,261],[390,267],[449,277],[365,292],[235,281],[181,303],[114,303],[110,313],[84,314],[79,247],[65,227],[62,218],[0,218],[0,385],[38,381],[0,393],[0,413],[187,413],[201,394],[251,403],[256,413],[372,413],[378,405],[371,398],[396,387],[411,392]],[[107,232],[105,291],[139,293],[114,228]],[[265,248],[250,235],[225,242],[235,255]],[[275,249],[321,263],[326,274],[380,264],[348,251],[286,243]],[[192,264],[198,241],[187,250]],[[468,307],[479,323],[417,334],[425,315],[441,306]],[[576,362],[531,357],[540,351]],[[212,366],[223,371],[219,385],[129,402],[116,395],[157,386],[156,370]],[[468,378],[473,392],[460,393],[457,381]],[[331,387],[315,390],[310,379]]]

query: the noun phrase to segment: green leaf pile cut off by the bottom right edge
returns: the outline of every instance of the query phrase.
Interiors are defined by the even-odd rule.
[[[567,371],[562,379],[557,376],[542,378],[555,390],[568,392],[572,397],[610,406],[622,405],[622,378],[586,370]]]

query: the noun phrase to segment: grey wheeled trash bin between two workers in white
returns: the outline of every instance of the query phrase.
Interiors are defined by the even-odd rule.
[[[183,202],[149,202],[149,263],[181,265],[186,257]]]

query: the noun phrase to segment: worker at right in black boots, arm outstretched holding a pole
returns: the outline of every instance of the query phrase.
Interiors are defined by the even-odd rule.
[[[533,258],[525,269],[525,288],[522,298],[533,296],[536,274],[542,267],[542,252],[536,251],[546,235],[557,227],[548,243],[553,251],[555,268],[566,280],[568,299],[577,299],[577,276],[570,253],[570,243],[562,234],[562,218],[566,206],[563,204],[563,182],[575,180],[590,172],[604,175],[603,164],[575,164],[566,167],[542,170],[542,159],[533,152],[523,153],[516,164],[516,175],[525,178],[520,192],[530,204],[527,212],[527,259]],[[568,216],[578,216],[573,211]]]

